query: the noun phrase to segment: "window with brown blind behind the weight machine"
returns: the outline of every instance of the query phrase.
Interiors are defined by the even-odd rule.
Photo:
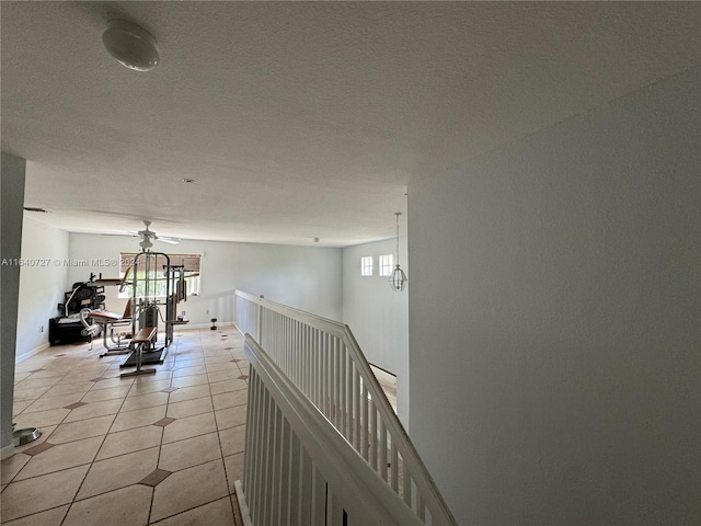
[[[119,277],[124,277],[127,271],[129,271],[129,276],[127,279],[127,286],[125,286],[122,291],[119,291],[119,298],[130,298],[131,297],[131,281],[134,276],[131,272],[134,272],[134,259],[136,258],[135,252],[122,252],[119,254]],[[183,265],[184,266],[184,278],[185,278],[185,287],[188,296],[197,296],[199,295],[199,254],[168,254],[170,258],[171,266]],[[141,266],[141,262],[145,261],[142,259],[139,260],[139,265]],[[153,268],[149,271],[149,296],[152,297],[165,297],[166,289],[166,281],[163,274],[163,265],[165,265],[165,258],[161,255],[156,256],[156,264]],[[180,268],[176,268],[175,279],[180,277]],[[146,295],[146,270],[139,270],[138,283],[137,283],[137,296]],[[175,293],[175,285],[171,284],[171,294]]]

